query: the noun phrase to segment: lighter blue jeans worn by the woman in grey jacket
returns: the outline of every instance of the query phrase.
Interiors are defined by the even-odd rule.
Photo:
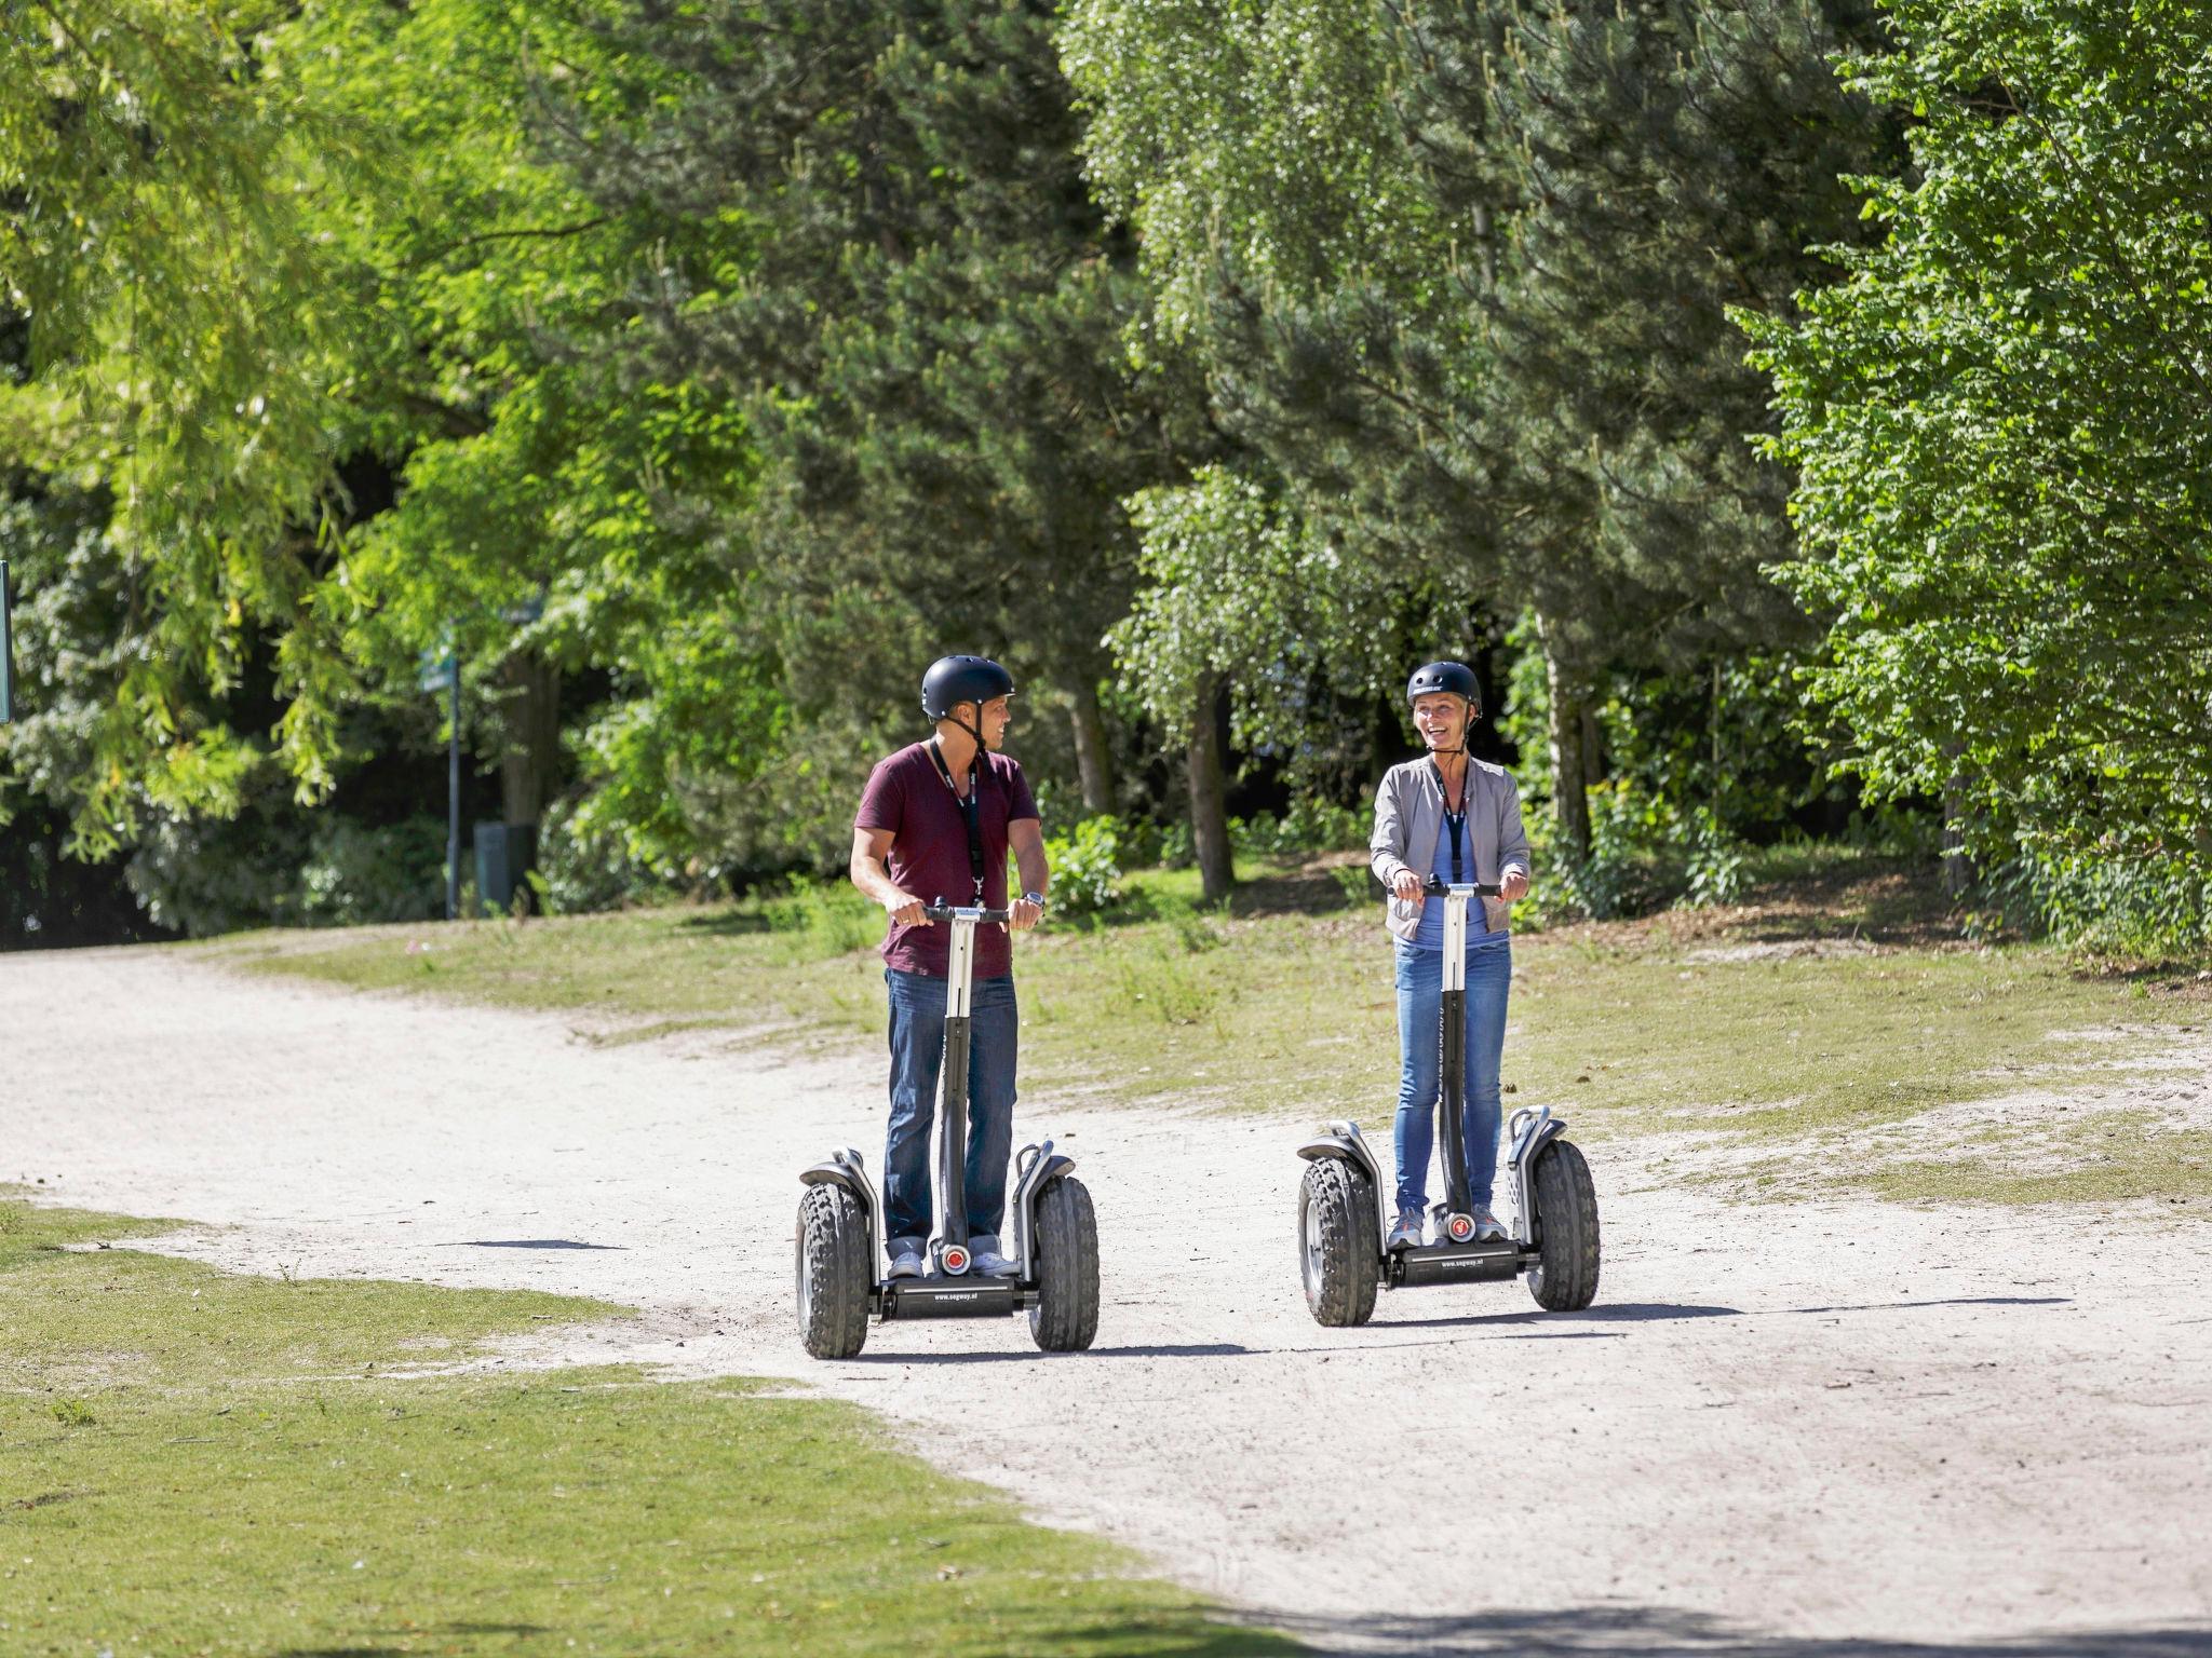
[[[1467,957],[1467,1196],[1491,1207],[1498,1178],[1498,1066],[1506,1050],[1506,988],[1513,946],[1484,944]],[[1398,944],[1398,1209],[1429,1203],[1429,1152],[1442,1068],[1444,957]]]

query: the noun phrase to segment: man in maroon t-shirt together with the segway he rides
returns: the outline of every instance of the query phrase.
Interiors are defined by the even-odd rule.
[[[933,663],[922,712],[936,738],[883,760],[854,818],[852,880],[891,917],[891,1125],[880,1198],[849,1145],[799,1176],[799,1335],[818,1360],[854,1357],[869,1320],[1029,1313],[1046,1353],[1097,1335],[1097,1214],[1075,1158],[1051,1141],[1011,1169],[1006,1156],[1020,1030],[1006,933],[1042,920],[1048,875],[1029,783],[998,752],[1009,696],[995,661]],[[1009,847],[1024,886],[1011,904]]]

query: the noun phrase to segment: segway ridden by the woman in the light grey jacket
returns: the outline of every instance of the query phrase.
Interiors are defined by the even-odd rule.
[[[1528,1276],[1537,1307],[1575,1313],[1597,1295],[1597,1189],[1590,1165],[1551,1108],[1513,1112],[1506,1174],[1520,1198],[1511,1238],[1478,1240],[1467,1180],[1467,904],[1498,898],[1489,884],[1429,878],[1444,898],[1442,1143],[1444,1203],[1433,1240],[1387,1249],[1383,1167],[1358,1123],[1329,1123],[1298,1147],[1298,1262],[1305,1304],[1321,1324],[1365,1324],[1376,1289],[1478,1284]]]

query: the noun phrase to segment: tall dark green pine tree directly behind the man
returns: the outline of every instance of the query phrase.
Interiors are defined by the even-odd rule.
[[[927,657],[991,650],[1057,692],[1113,805],[1119,502],[1177,475],[1197,398],[1126,363],[1146,287],[1084,188],[1051,7],[641,2],[615,40],[688,91],[577,172],[611,208],[745,228],[743,281],[666,274],[655,371],[761,447],[732,550],[794,599],[794,703],[891,692],[911,730]]]

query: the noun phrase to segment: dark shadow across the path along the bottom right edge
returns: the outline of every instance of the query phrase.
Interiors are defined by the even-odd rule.
[[[1444,1658],[2212,1658],[2212,1627],[2066,1629],[2006,1640],[1865,1640],[1770,1636],[1679,1607],[1571,1607],[1462,1618],[1354,1614],[1270,1618],[1316,1654],[1442,1654]]]

